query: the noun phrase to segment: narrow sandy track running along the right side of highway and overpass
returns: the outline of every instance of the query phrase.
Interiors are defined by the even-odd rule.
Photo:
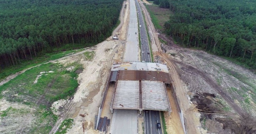
[[[145,5],[139,0],[139,2],[142,5],[142,10],[145,14],[145,19],[148,25],[148,32],[150,34],[151,37],[151,45],[152,45],[152,50],[154,53],[154,55],[158,55],[162,58],[165,59],[165,61],[167,62],[167,65],[170,67],[170,74],[171,74],[171,78],[174,81],[174,87],[176,87],[175,91],[177,94],[177,99],[179,101],[181,110],[183,110],[183,115],[184,118],[186,118],[186,125],[187,125],[187,131],[189,134],[199,134],[199,130],[197,129],[198,126],[200,126],[199,124],[199,118],[196,117],[195,114],[197,114],[197,112],[194,112],[191,110],[190,107],[190,103],[189,100],[186,96],[187,93],[187,89],[184,88],[184,83],[181,81],[181,78],[179,77],[178,71],[176,70],[176,66],[175,64],[173,64],[171,61],[169,61],[169,59],[167,58],[168,56],[164,53],[162,53],[162,49],[161,49],[161,45],[160,45],[160,41],[158,39],[158,35],[157,35],[157,31],[151,21],[150,15],[145,7]],[[157,49],[154,49],[154,47],[157,47]],[[157,52],[158,50],[158,52]],[[168,127],[168,126],[167,126]]]

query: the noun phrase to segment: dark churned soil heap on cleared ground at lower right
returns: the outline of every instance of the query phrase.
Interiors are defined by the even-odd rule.
[[[196,93],[191,101],[201,112],[200,121],[205,125],[206,119],[218,121],[223,124],[224,130],[230,130],[235,134],[255,134],[256,121],[249,116],[236,117],[221,110],[221,103],[216,101],[215,95],[210,93]]]

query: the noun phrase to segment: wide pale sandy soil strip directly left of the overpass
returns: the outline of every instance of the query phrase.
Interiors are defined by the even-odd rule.
[[[111,67],[111,60],[114,53],[120,46],[120,42],[103,41],[97,44],[95,48],[90,51],[95,52],[95,56],[92,61],[86,61],[83,58],[84,55],[78,57],[70,57],[60,63],[69,63],[73,59],[80,59],[80,63],[84,65],[84,70],[78,76],[79,87],[74,95],[74,98],[65,107],[62,117],[57,121],[50,133],[55,133],[60,123],[68,117],[74,118],[74,125],[68,133],[86,133],[87,131],[94,132],[94,116],[98,114],[98,106],[101,103],[102,92],[105,87],[105,82],[109,76],[109,69]],[[86,115],[81,117],[80,114]],[[86,124],[83,126],[82,123]]]

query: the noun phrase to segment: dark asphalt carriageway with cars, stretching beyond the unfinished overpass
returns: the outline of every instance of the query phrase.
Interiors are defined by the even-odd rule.
[[[139,25],[141,25],[139,30],[140,30],[140,38],[141,38],[142,61],[151,62],[151,55],[150,55],[148,37],[147,37],[147,32],[146,32],[146,26],[144,23],[141,7],[139,6],[139,2],[137,0],[135,0],[135,3],[136,3],[136,7],[137,7],[137,13],[139,16]]]

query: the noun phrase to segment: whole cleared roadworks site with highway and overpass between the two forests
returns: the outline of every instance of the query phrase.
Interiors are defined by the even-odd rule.
[[[256,75],[224,58],[178,46],[154,28],[143,1],[123,2],[120,25],[105,41],[44,63],[53,64],[54,70],[39,68],[44,65],[40,64],[33,67],[41,70],[38,73],[26,72],[31,70],[26,68],[0,81],[1,86],[23,75],[34,78],[32,82],[21,79],[2,91],[0,112],[5,117],[0,118],[0,133],[53,134],[60,132],[60,126],[67,134],[256,133]],[[88,58],[86,53],[93,56]],[[55,89],[38,98],[13,92],[22,85],[34,85],[33,81],[50,72],[70,71],[76,64],[83,69],[71,78],[79,84],[74,95],[49,104],[55,122],[52,116],[45,118],[44,111],[27,105],[28,101],[48,103],[42,98]],[[66,74],[59,77],[67,79]],[[50,86],[46,84],[47,89]],[[24,98],[23,103],[15,99],[18,96]],[[66,119],[73,120],[70,127],[62,125]]]

